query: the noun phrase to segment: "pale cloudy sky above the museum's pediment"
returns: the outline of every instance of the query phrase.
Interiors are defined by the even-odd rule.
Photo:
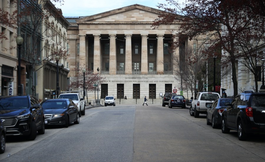
[[[184,1],[184,0],[176,0]],[[64,0],[63,4],[55,4],[62,9],[63,16],[90,16],[118,9],[133,4],[140,4],[158,9],[158,3],[167,4],[166,0]]]

